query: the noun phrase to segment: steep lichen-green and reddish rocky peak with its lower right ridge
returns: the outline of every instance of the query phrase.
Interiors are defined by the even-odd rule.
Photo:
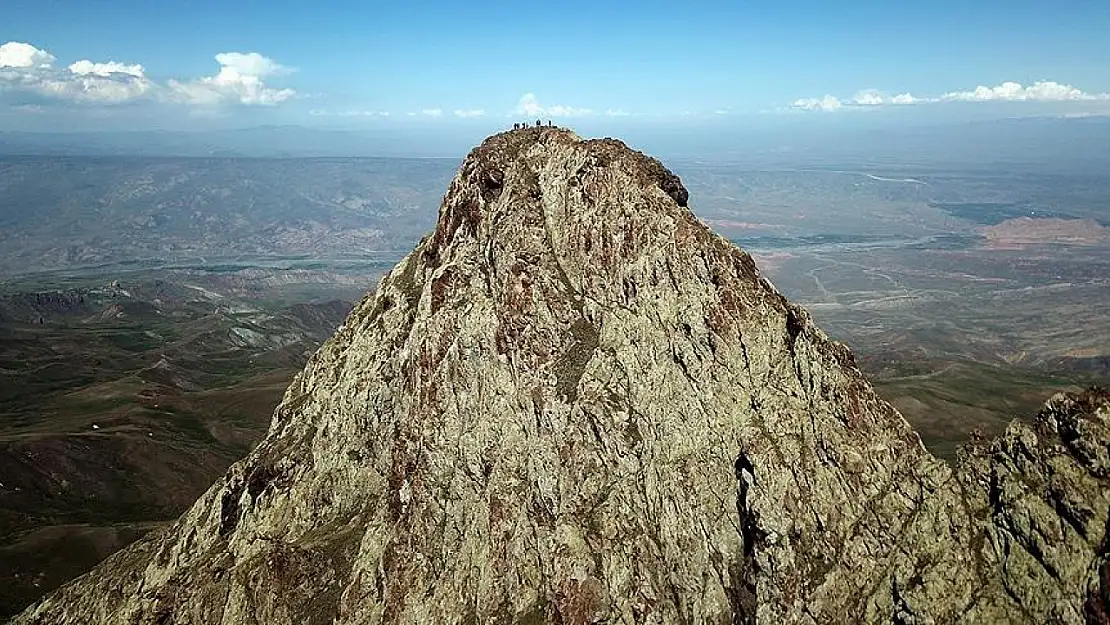
[[[258,447],[16,623],[1110,622],[1110,395],[951,467],[687,200],[490,138]]]

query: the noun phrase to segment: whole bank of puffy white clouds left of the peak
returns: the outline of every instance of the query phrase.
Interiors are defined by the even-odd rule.
[[[273,89],[264,78],[289,69],[256,52],[215,56],[220,71],[191,81],[169,80],[159,84],[145,75],[143,65],[118,61],[77,61],[54,68],[54,57],[29,43],[9,41],[0,46],[0,94],[14,94],[16,103],[54,100],[85,104],[121,104],[134,101],[186,104],[276,104],[295,95],[292,89]],[[30,102],[28,102],[30,100]]]

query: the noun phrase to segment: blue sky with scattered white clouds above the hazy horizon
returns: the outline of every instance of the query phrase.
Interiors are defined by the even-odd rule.
[[[1104,114],[1108,32],[1106,0],[6,0],[0,128]]]

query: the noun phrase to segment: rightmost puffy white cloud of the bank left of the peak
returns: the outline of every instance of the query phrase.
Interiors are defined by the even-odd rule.
[[[215,61],[220,63],[220,72],[213,77],[188,82],[170,80],[170,99],[192,104],[239,102],[272,105],[296,95],[292,89],[266,87],[264,78],[292,70],[258,52],[221,52],[215,56]]]

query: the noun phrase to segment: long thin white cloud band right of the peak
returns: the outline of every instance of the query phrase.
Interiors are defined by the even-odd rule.
[[[825,95],[820,99],[801,98],[795,100],[791,108],[809,111],[838,111],[937,102],[1079,102],[1092,100],[1110,100],[1110,93],[1087,93],[1070,84],[1046,80],[1028,87],[1019,82],[1003,82],[996,87],[979,85],[971,91],[950,91],[934,98],[919,98],[911,93],[888,95],[878,90],[867,89],[848,100],[840,100],[834,95]]]

